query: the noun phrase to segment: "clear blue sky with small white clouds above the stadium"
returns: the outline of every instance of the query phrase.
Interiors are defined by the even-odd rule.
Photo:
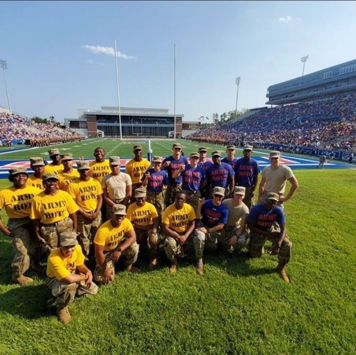
[[[28,117],[76,118],[77,108],[121,106],[185,120],[264,106],[269,85],[355,59],[355,1],[1,1],[0,59],[10,104]],[[84,47],[89,46],[89,47]],[[123,56],[125,56],[123,55]],[[131,58],[133,57],[133,58]],[[7,107],[3,76],[0,106]]]

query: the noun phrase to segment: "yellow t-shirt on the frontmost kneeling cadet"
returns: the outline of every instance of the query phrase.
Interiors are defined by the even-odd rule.
[[[47,260],[47,276],[55,277],[60,281],[68,275],[74,274],[76,267],[84,264],[84,258],[79,244],[75,246],[71,258],[66,258],[62,255],[61,249],[56,248],[51,251]]]

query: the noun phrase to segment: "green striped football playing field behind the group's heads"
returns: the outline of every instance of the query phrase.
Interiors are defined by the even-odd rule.
[[[172,154],[172,144],[175,141],[171,140],[161,140],[161,141],[151,141],[151,149],[155,155],[160,155],[163,157],[169,156]],[[178,140],[177,142],[181,143],[183,146],[183,152],[188,156],[191,152],[197,151],[198,147],[203,145],[206,146],[208,150],[208,156],[214,150],[221,150],[222,155],[225,156],[225,147],[212,145],[212,144],[199,144],[198,142],[191,142],[185,140]],[[135,144],[141,144],[143,147],[143,155],[147,157],[148,151],[148,142],[147,140],[142,141],[120,141],[116,139],[90,139],[82,142],[74,143],[65,143],[55,145],[56,148],[59,148],[61,153],[72,153],[75,158],[84,157],[84,158],[93,158],[94,149],[98,146],[104,148],[107,152],[107,157],[118,155],[122,158],[131,158],[133,157],[133,146]],[[53,146],[54,147],[54,146]],[[51,147],[43,148],[33,148],[24,151],[10,152],[3,155],[0,155],[0,160],[18,160],[18,159],[28,159],[33,156],[40,156],[49,159],[48,150]],[[258,149],[259,151],[263,151]],[[267,151],[266,151],[267,152]],[[236,156],[242,155],[242,150],[238,150]],[[94,159],[94,158],[93,158]]]

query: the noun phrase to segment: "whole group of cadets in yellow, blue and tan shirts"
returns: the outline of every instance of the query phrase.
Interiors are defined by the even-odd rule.
[[[68,304],[75,295],[95,294],[93,280],[112,282],[119,259],[127,271],[140,272],[134,266],[140,252],[154,268],[160,233],[169,271],[175,273],[178,259],[193,253],[199,275],[204,251],[216,250],[218,244],[235,256],[249,239],[249,255],[260,257],[270,240],[268,253],[278,255],[277,272],[288,283],[291,242],[283,204],[298,181],[280,164],[280,153],[270,152],[271,165],[262,171],[254,205],[260,169],[251,158],[252,146],[244,146],[237,159],[235,147],[228,145],[227,157],[214,151],[213,161],[206,159],[205,147],[191,153],[189,162],[181,150],[173,144],[172,156],[155,156],[151,167],[142,146],[135,145],[125,173],[120,172],[120,157],[106,160],[101,147],[92,162],[77,161],[77,169],[72,154],[58,149],[49,150],[52,162],[47,165],[43,158],[30,158],[31,176],[25,168],[10,169],[13,185],[0,192],[0,209],[5,208],[9,221],[5,227],[0,219],[0,230],[11,237],[16,252],[13,280],[31,283],[24,274],[30,265],[41,272],[41,249],[46,251],[46,285],[56,298],[58,319],[68,323]],[[287,180],[291,188],[284,196]],[[92,257],[93,273],[85,265]]]

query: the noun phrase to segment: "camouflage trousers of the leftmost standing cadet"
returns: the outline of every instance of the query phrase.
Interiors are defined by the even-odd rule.
[[[33,225],[29,217],[9,218],[9,230],[14,233],[11,237],[15,256],[11,263],[13,278],[23,275],[30,267],[30,261],[38,263],[40,244],[35,239]]]

